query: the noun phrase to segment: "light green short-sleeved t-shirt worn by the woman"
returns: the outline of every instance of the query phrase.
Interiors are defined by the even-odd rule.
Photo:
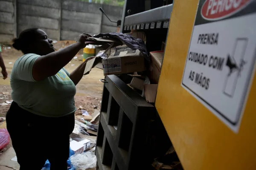
[[[32,68],[38,57],[37,54],[25,54],[14,63],[10,78],[13,101],[40,116],[60,117],[74,113],[76,86],[69,73],[62,68],[54,76],[35,81]]]

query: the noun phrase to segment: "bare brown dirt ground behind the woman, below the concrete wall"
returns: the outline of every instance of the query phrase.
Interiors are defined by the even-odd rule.
[[[59,41],[54,44],[56,50],[61,49],[74,41]],[[82,62],[82,50],[76,55],[77,59],[72,59],[65,68],[67,71],[72,72]],[[12,67],[17,58],[23,54],[20,51],[15,50],[10,45],[2,45],[2,56],[8,72],[8,78],[2,79],[0,74],[0,117],[5,117],[6,112],[12,102],[11,86],[9,76],[12,71]],[[75,102],[77,108],[83,108],[89,114],[94,113],[94,109],[99,110],[102,98],[103,83],[100,79],[104,78],[103,71],[98,68],[93,68],[89,75],[84,76],[79,84],[76,86],[77,92],[75,96]],[[76,115],[81,115],[81,109],[76,111]]]

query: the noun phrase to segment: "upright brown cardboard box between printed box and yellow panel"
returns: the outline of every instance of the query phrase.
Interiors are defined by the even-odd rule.
[[[150,52],[150,82],[158,84],[163,62],[164,51]]]

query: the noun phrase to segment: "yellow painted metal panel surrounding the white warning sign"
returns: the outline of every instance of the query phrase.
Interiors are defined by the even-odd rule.
[[[256,169],[256,78],[238,133],[181,87],[198,0],[175,0],[156,108],[185,170]]]

